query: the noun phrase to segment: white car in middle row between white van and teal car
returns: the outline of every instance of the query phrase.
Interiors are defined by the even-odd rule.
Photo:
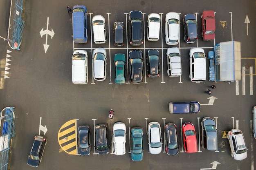
[[[107,77],[107,53],[103,48],[93,50],[93,78],[103,81]]]

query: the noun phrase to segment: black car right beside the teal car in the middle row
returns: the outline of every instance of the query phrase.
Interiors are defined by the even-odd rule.
[[[143,54],[140,50],[129,52],[130,81],[133,84],[140,84],[144,78]]]

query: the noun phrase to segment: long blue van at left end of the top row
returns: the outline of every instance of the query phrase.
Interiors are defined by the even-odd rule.
[[[75,5],[72,13],[73,41],[74,43],[87,42],[87,8]]]

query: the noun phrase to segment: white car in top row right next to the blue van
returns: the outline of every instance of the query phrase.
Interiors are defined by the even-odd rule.
[[[95,44],[103,44],[107,42],[105,18],[101,15],[92,17],[92,30]]]

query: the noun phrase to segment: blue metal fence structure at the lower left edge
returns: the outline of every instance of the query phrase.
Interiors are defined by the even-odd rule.
[[[15,135],[14,117],[14,107],[6,107],[0,113],[0,170],[8,169],[11,138]]]

